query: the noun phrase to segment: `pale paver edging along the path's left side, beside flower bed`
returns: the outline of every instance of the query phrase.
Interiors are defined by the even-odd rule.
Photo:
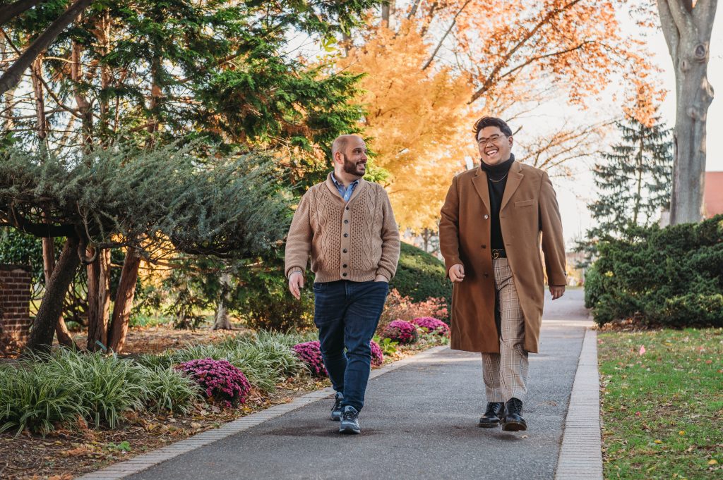
[[[431,349],[425,350],[424,352],[420,352],[419,354],[415,354],[410,357],[398,360],[397,362],[390,363],[389,365],[385,365],[382,368],[373,370],[372,374],[369,375],[369,379],[371,380],[372,378],[377,378],[380,375],[392,372],[393,370],[397,370],[398,368],[404,367],[405,365],[427,359],[433,354],[447,348],[448,346],[435,346]],[[197,435],[193,435],[192,437],[187,438],[186,440],[175,442],[172,445],[158,448],[158,450],[153,450],[149,453],[137,455],[127,461],[114,463],[113,465],[103,468],[101,470],[94,471],[90,474],[85,474],[76,478],[77,480],[122,479],[125,476],[137,474],[140,471],[144,471],[147,468],[158,465],[158,463],[163,463],[167,460],[171,460],[171,458],[175,458],[191,450],[195,450],[196,448],[200,448],[204,445],[208,445],[218,440],[222,440],[223,438],[230,437],[231,435],[236,435],[239,432],[243,432],[244,430],[247,430],[251,427],[262,424],[267,420],[286,414],[289,411],[300,409],[302,406],[309,405],[309,403],[322,400],[323,398],[328,398],[332,396],[333,393],[334,390],[331,387],[322,388],[322,390],[316,390],[312,393],[307,393],[304,396],[294,398],[294,400],[288,403],[281,403],[279,405],[275,405],[268,409],[259,411],[255,414],[243,416],[240,419],[234,420],[233,422],[223,424],[218,429],[201,432]]]

